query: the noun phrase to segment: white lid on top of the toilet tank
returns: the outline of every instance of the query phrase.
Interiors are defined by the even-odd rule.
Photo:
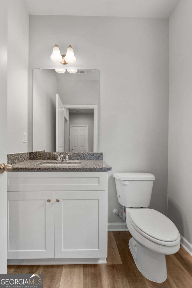
[[[119,180],[129,181],[155,180],[155,176],[151,173],[114,173],[113,177]]]

